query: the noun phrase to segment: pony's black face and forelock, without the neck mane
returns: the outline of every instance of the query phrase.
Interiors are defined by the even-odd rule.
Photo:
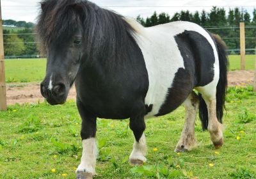
[[[49,104],[63,104],[76,79],[81,59],[86,58],[83,30],[84,3],[87,1],[46,0],[41,3],[37,33],[47,55],[41,93]]]

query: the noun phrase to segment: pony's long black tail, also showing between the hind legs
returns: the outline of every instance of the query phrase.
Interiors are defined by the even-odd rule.
[[[216,90],[216,114],[218,121],[222,123],[223,109],[225,109],[225,96],[227,91],[227,72],[228,72],[228,58],[226,52],[226,45],[218,35],[212,35],[216,43],[216,48],[218,50],[218,57],[220,63],[220,79],[218,81]],[[200,101],[199,104],[199,117],[202,122],[203,130],[207,130],[208,127],[208,111],[207,105],[201,94],[198,94]]]

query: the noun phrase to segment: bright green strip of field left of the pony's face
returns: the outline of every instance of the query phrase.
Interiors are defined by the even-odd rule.
[[[5,61],[6,82],[42,81],[45,59],[8,59]]]

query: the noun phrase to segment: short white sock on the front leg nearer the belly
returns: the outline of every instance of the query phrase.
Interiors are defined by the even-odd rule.
[[[140,141],[137,142],[134,139],[133,150],[129,157],[129,160],[141,160],[142,162],[146,162],[145,155],[147,154],[147,144],[146,137],[142,134]]]

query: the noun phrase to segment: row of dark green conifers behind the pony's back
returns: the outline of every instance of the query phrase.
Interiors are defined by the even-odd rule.
[[[256,9],[253,10],[253,16],[250,13],[239,10],[239,8],[230,9],[226,13],[224,8],[212,7],[211,12],[207,13],[204,10],[199,13],[191,13],[187,11],[181,11],[175,13],[173,17],[170,17],[167,13],[160,13],[157,15],[156,12],[147,19],[137,17],[145,27],[156,26],[158,24],[164,24],[167,22],[173,22],[177,20],[184,20],[189,22],[195,22],[196,24],[205,27],[211,33],[218,34],[223,38],[229,49],[239,49],[239,22],[244,22],[248,27],[246,28],[246,49],[254,49],[256,47]],[[253,26],[250,27],[249,26]],[[212,29],[214,27],[220,27],[220,29]],[[221,27],[236,27],[232,29],[223,29]],[[255,53],[254,51],[248,51],[248,54]],[[239,54],[239,51],[231,51],[231,54]]]

